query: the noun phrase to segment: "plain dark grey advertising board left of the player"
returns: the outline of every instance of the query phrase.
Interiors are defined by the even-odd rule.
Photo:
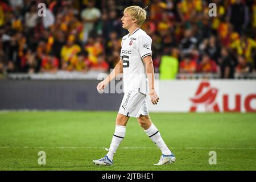
[[[96,80],[0,80],[0,110],[117,110],[122,94],[100,94]]]

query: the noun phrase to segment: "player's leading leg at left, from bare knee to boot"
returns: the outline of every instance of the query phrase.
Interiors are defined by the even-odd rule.
[[[112,138],[112,142],[110,143],[110,147],[108,150],[108,154],[104,156],[104,158],[93,160],[94,164],[102,165],[102,166],[110,166],[113,164],[113,157],[119,144],[125,138],[126,133],[126,124],[129,117],[126,117],[123,114],[118,113],[117,118],[115,119],[115,132]]]

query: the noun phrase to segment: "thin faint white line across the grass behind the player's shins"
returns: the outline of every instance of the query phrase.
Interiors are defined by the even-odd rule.
[[[18,147],[18,146],[0,146],[0,148],[60,148],[60,149],[86,149],[86,148],[95,148],[95,149],[104,149],[105,147]],[[119,147],[121,149],[158,149],[157,147]],[[176,149],[199,149],[199,150],[256,150],[256,147],[171,147]]]

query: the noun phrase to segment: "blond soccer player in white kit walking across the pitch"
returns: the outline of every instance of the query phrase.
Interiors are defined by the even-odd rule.
[[[115,121],[115,132],[104,158],[93,160],[94,164],[109,166],[113,164],[113,156],[119,144],[125,138],[126,124],[130,117],[138,119],[148,137],[160,148],[162,155],[155,165],[163,165],[175,162],[175,156],[164,143],[158,129],[151,122],[148,115],[146,96],[149,93],[152,104],[159,101],[154,88],[154,67],[152,62],[152,39],[141,30],[142,23],[146,19],[146,10],[139,6],[129,6],[123,11],[122,27],[129,34],[122,38],[122,49],[119,63],[108,77],[101,81],[98,92],[104,88],[119,73],[123,73],[124,96]]]

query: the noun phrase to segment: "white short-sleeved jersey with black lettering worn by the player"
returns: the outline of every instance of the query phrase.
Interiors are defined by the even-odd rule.
[[[139,91],[148,93],[146,68],[143,58],[152,55],[152,39],[141,28],[137,28],[130,36],[122,38],[120,57],[123,60],[123,91]]]

